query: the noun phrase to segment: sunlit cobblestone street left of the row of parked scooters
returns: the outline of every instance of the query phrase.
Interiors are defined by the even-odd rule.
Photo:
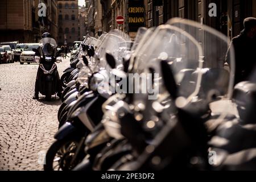
[[[57,64],[60,76],[69,59]],[[42,170],[57,131],[60,100],[32,100],[38,64],[0,65],[0,170]]]

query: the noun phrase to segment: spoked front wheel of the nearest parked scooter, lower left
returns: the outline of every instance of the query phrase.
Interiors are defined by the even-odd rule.
[[[73,165],[71,161],[75,156],[77,147],[79,147],[78,139],[57,140],[52,144],[46,154],[46,164],[44,171],[70,171],[79,162]]]

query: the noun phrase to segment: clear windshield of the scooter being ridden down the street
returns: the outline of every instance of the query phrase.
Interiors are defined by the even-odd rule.
[[[44,56],[55,56],[57,43],[52,38],[43,38],[39,42],[39,46],[42,48]]]

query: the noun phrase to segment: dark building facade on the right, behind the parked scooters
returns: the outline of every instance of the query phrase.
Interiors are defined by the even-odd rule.
[[[102,27],[108,32],[120,28],[115,23],[117,15],[123,15],[125,23],[121,30],[129,30],[129,3],[135,1],[144,3],[144,26],[154,27],[166,23],[174,17],[192,19],[221,31],[233,38],[243,28],[243,19],[256,17],[256,1],[254,0],[101,0]],[[209,16],[210,3],[215,3],[217,16]],[[128,17],[127,17],[128,16]]]

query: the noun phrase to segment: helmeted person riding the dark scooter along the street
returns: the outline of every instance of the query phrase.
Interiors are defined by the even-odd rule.
[[[42,35],[42,40],[45,40],[45,39],[52,39],[51,37],[51,34],[49,34],[48,32],[45,32],[43,35]],[[42,88],[42,78],[44,76],[44,71],[43,69],[41,68],[41,65],[44,65],[44,64],[51,64],[49,61],[47,61],[46,59],[43,59],[42,57],[44,57],[43,55],[41,55],[42,51],[40,51],[39,49],[42,49],[41,47],[38,48],[38,51],[36,51],[35,53],[35,56],[39,56],[40,57],[40,65],[39,65],[39,68],[38,68],[38,73],[36,75],[36,82],[35,82],[35,94],[33,96],[33,99],[39,99],[39,92],[41,92],[41,90],[43,89]],[[44,49],[47,49],[47,52],[48,53],[51,53],[52,56],[55,56],[54,53],[57,52],[56,50],[56,47],[54,46],[51,46],[51,44],[44,44],[44,47],[43,47],[43,54],[44,54]],[[57,93],[57,96],[59,98],[61,98],[61,92],[63,91],[62,87],[61,87],[61,83],[60,83],[60,77],[59,77],[59,73],[56,69],[55,71],[55,74],[54,74],[54,81],[53,81],[53,85],[54,85],[54,90],[56,91]]]

